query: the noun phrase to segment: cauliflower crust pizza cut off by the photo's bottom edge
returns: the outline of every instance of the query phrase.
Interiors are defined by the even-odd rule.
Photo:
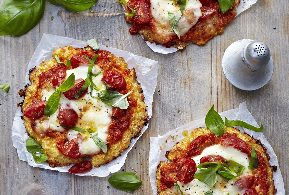
[[[258,158],[252,170],[248,167],[253,146]],[[234,127],[226,127],[222,136],[214,135],[208,128],[194,129],[166,152],[171,162],[160,162],[158,193],[181,194],[181,190],[183,194],[201,195],[275,194],[272,177],[276,166],[269,165],[266,151],[260,140]],[[213,177],[216,183],[211,182]]]

